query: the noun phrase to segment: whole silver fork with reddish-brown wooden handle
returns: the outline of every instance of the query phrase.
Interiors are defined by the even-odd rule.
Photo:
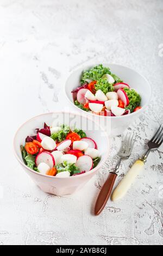
[[[133,149],[134,142],[134,133],[130,133],[129,136],[126,135],[126,137],[124,138],[122,147],[117,154],[120,159],[118,160],[114,171],[109,173],[108,179],[105,181],[103,187],[101,188],[101,191],[98,194],[98,198],[95,204],[95,215],[101,214],[101,212],[105,208],[105,205],[108,202],[112,188],[114,186],[115,180],[117,178],[118,168],[120,167],[121,160],[128,159]]]

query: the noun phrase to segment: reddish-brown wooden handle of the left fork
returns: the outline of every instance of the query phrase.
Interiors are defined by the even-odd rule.
[[[105,181],[101,191],[98,194],[98,198],[95,204],[95,215],[101,214],[103,209],[105,208],[106,203],[110,197],[112,187],[114,186],[115,180],[117,178],[116,173],[109,173],[108,179]]]

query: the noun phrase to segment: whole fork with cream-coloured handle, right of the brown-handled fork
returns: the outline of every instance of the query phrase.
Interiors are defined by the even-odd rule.
[[[137,160],[134,165],[130,168],[129,172],[122,179],[120,184],[115,188],[115,191],[112,194],[111,200],[117,201],[124,197],[129,190],[131,184],[133,184],[136,176],[139,175],[144,169],[145,162],[147,161],[147,157],[152,149],[157,149],[163,142],[163,127],[160,125],[159,129],[156,131],[155,135],[148,142],[148,150],[147,152]]]

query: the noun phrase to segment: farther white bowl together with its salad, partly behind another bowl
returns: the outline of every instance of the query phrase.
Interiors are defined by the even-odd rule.
[[[110,135],[120,135],[145,110],[151,86],[126,66],[96,64],[73,71],[65,93],[76,109],[101,123]]]

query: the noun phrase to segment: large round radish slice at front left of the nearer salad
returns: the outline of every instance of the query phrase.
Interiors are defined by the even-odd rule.
[[[50,168],[55,166],[55,160],[51,153],[43,151],[42,153],[36,156],[36,166],[39,166],[40,163],[46,163]]]

